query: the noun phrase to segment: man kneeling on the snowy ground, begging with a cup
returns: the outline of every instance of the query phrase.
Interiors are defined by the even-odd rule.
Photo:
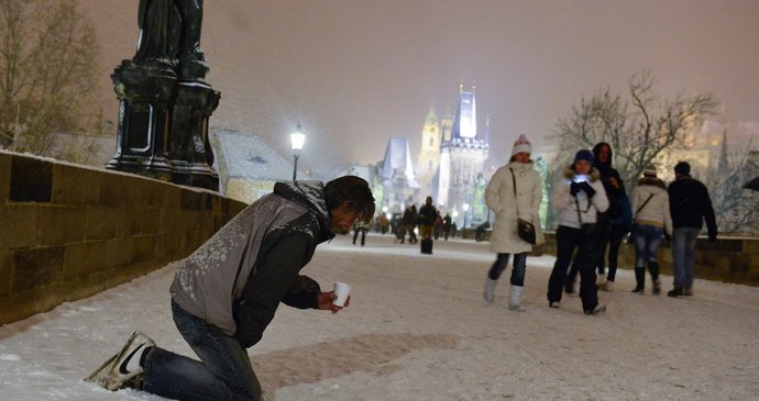
[[[174,322],[200,360],[157,347],[140,332],[88,379],[109,390],[141,389],[176,400],[260,400],[246,348],[280,302],[330,310],[334,291],[300,276],[316,246],[369,224],[374,198],[365,180],[277,182],[182,261],[172,283]],[[348,302],[344,304],[348,307]]]

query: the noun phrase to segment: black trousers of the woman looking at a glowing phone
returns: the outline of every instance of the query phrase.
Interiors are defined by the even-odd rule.
[[[557,230],[557,261],[548,279],[548,301],[560,302],[566,280],[566,269],[572,263],[576,249],[576,265],[580,271],[580,298],[582,309],[592,311],[598,304],[598,292],[595,286],[595,266],[598,261],[597,226],[585,225],[572,229],[560,225]]]

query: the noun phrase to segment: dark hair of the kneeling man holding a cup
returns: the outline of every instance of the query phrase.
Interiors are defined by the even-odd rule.
[[[361,177],[343,176],[324,186],[327,209],[332,211],[343,202],[350,201],[349,210],[359,213],[356,224],[365,225],[374,218],[374,197],[369,182]]]

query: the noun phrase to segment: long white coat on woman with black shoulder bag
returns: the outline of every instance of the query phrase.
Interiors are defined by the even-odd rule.
[[[495,223],[491,233],[491,252],[499,254],[520,254],[532,250],[532,245],[519,238],[517,234],[517,204],[519,218],[535,225],[536,242],[542,244],[543,231],[540,227],[540,202],[542,188],[540,174],[530,163],[512,161],[501,167],[487,183],[485,202],[495,212]],[[517,203],[514,202],[514,181],[512,168],[517,181]]]

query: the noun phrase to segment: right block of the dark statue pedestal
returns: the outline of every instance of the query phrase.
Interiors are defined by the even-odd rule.
[[[172,111],[172,181],[219,190],[219,175],[211,167],[213,152],[208,120],[221,94],[204,82],[179,82]]]

